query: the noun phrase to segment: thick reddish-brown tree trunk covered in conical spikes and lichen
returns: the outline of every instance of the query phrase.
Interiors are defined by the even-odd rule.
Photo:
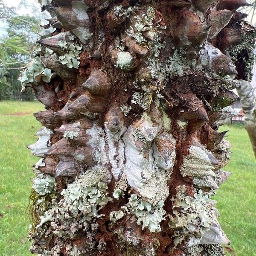
[[[20,78],[46,105],[29,146],[42,157],[31,252],[224,255],[230,241],[210,196],[230,175],[218,121],[235,114],[233,78],[250,78],[253,58],[239,65],[238,49],[253,47],[255,30],[235,11],[247,3],[41,5],[52,18]]]

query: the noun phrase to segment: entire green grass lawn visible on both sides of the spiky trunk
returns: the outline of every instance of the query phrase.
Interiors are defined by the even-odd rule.
[[[31,166],[37,162],[26,145],[41,124],[32,116],[44,106],[38,102],[0,102],[0,256],[26,256],[29,219],[26,212],[33,176]],[[256,161],[246,131],[241,126],[221,126],[230,130],[232,172],[214,199],[218,200],[219,221],[231,240],[237,256],[256,256]],[[229,254],[228,254],[229,255]]]

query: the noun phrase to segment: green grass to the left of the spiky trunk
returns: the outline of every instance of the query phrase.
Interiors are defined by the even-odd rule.
[[[41,124],[32,116],[44,106],[39,102],[0,102],[0,256],[25,256],[29,219],[26,212],[33,176],[32,156],[26,145]],[[17,112],[29,112],[9,116]]]

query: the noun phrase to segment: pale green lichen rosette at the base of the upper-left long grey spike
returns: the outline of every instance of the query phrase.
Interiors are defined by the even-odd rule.
[[[66,65],[68,68],[78,68],[80,64],[79,54],[81,53],[82,49],[81,45],[70,41],[59,41],[58,45],[65,49],[65,53],[59,56],[61,64]]]

